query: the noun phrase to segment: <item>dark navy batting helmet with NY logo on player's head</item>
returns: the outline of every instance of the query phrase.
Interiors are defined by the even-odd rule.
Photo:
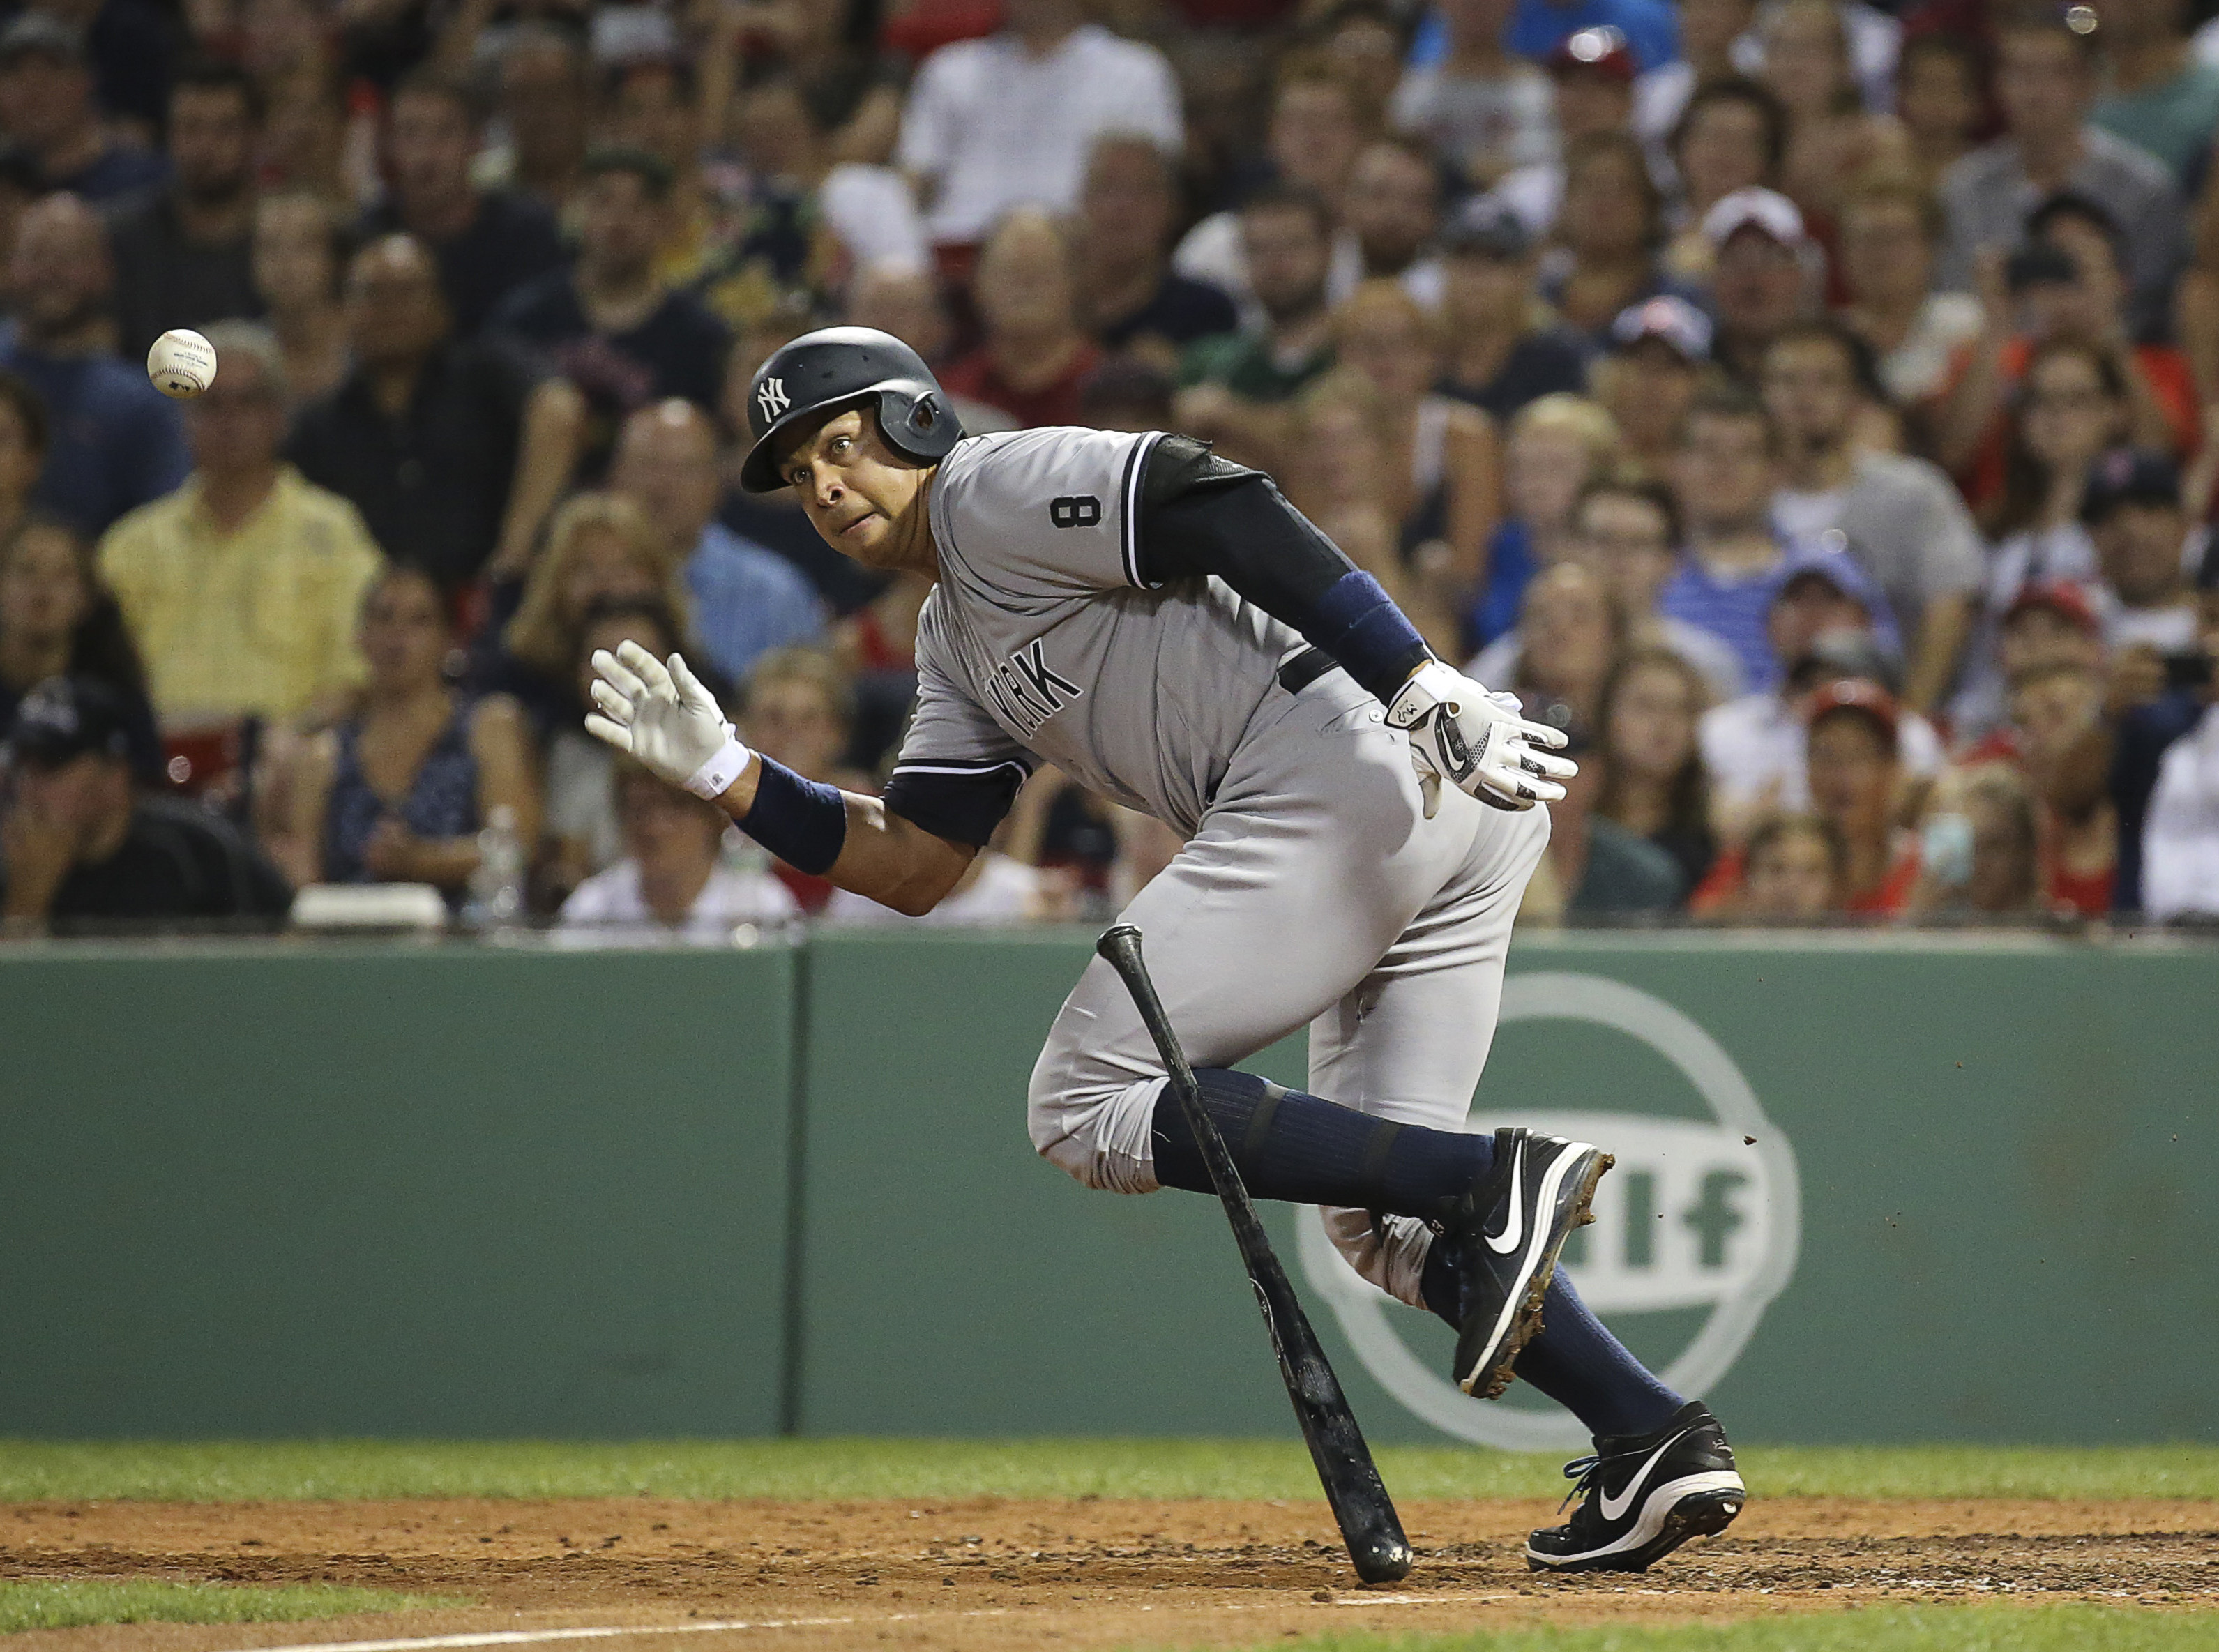
[[[877,406],[879,432],[910,459],[945,459],[963,439],[948,392],[916,350],[877,328],[825,326],[781,346],[757,368],[748,386],[754,446],[739,468],[739,486],[777,492],[786,486],[772,455],[779,435],[861,406]]]

